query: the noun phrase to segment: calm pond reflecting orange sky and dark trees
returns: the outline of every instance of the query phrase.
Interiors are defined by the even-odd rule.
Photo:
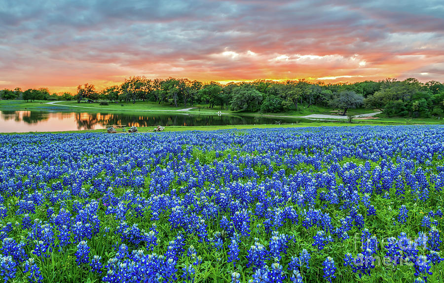
[[[151,112],[144,114],[65,111],[0,110],[0,132],[55,132],[105,129],[107,125],[136,127],[217,126],[296,123],[305,119],[240,115],[203,115]]]

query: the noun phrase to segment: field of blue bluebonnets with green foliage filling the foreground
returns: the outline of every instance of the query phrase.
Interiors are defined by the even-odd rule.
[[[443,282],[441,126],[0,144],[8,282]]]

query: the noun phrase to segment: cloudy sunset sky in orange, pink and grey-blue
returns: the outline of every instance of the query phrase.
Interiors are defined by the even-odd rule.
[[[130,75],[444,82],[444,4],[0,0],[0,89],[74,93]]]

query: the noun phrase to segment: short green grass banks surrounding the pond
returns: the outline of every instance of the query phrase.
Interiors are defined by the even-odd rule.
[[[155,103],[142,103],[138,102],[135,105],[132,103],[124,104],[124,106],[120,106],[121,104],[111,104],[111,110],[101,107],[110,107],[110,106],[99,106],[98,103],[80,103],[77,102],[66,102],[60,101],[57,102],[61,105],[52,105],[47,104],[47,101],[37,101],[37,102],[25,102],[25,101],[1,101],[0,100],[0,110],[1,111],[17,111],[17,110],[28,110],[28,111],[69,111],[69,112],[88,112],[88,113],[116,113],[116,114],[134,114],[140,115],[141,113],[147,114],[206,114],[206,115],[215,115],[220,109],[214,108],[204,108],[200,109],[189,109],[187,111],[177,111],[177,108],[174,106],[168,105],[157,105]],[[62,105],[69,106],[62,106]],[[75,106],[85,106],[87,108],[79,108]],[[120,107],[120,108],[119,108]],[[132,110],[131,108],[140,108],[139,111]],[[145,109],[142,109],[145,107]],[[179,107],[180,108],[180,107]],[[232,116],[257,116],[257,117],[275,117],[279,119],[280,117],[287,119],[295,119],[295,123],[292,120],[281,124],[255,124],[255,125],[219,125],[219,126],[167,126],[166,132],[170,131],[214,131],[214,130],[223,130],[223,129],[253,129],[253,128],[286,128],[286,127],[320,127],[320,126],[358,126],[358,125],[432,125],[432,124],[444,124],[444,120],[436,119],[436,118],[385,118],[378,117],[376,119],[354,119],[353,123],[349,123],[346,119],[306,119],[306,118],[296,118],[294,115],[306,115],[306,114],[323,114],[326,113],[327,108],[319,108],[319,107],[310,107],[309,111],[313,111],[310,113],[306,112],[306,108],[301,107],[301,111],[291,111],[286,113],[249,113],[249,112],[233,112],[233,111],[222,111],[226,115]],[[373,109],[353,109],[355,110],[355,114],[362,114],[366,111],[374,111]],[[146,111],[146,112],[144,112]],[[331,114],[331,113],[330,113]],[[298,119],[298,120],[296,120]],[[152,132],[154,126],[149,127],[139,127],[139,132],[146,133]],[[1,128],[0,128],[1,131]],[[117,129],[118,133],[122,133],[121,130]],[[44,132],[14,132],[14,133],[0,133],[4,134],[29,134],[29,133],[106,133],[106,129],[98,129],[98,130],[71,130],[71,131],[44,131]]]

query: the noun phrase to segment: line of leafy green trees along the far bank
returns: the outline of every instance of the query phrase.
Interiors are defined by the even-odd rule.
[[[93,84],[77,87],[77,93],[49,94],[47,89],[0,91],[2,99],[77,100],[128,102],[150,101],[173,106],[205,104],[210,108],[249,112],[286,112],[300,106],[324,106],[341,109],[365,106],[379,109],[387,116],[443,116],[444,84],[438,81],[422,83],[415,78],[399,81],[387,78],[355,83],[311,83],[305,79],[256,80],[253,82],[203,83],[186,78],[148,79],[131,76],[120,85],[97,91]]]

